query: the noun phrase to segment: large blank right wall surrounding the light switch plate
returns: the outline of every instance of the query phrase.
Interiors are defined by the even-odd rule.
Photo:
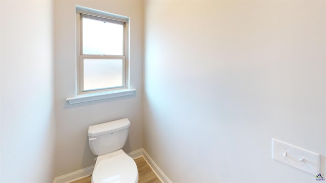
[[[144,8],[144,147],[173,182],[315,182],[271,138],[326,173],[326,1]]]

